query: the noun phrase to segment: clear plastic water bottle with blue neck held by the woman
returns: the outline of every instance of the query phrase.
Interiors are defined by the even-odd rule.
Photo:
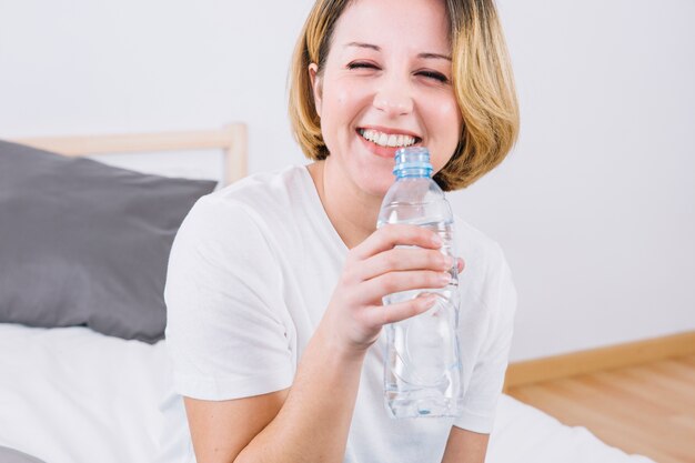
[[[389,189],[377,227],[407,223],[425,227],[442,238],[441,252],[453,258],[454,221],[444,192],[432,180],[426,148],[396,151],[395,183]],[[437,302],[429,311],[392,323],[386,330],[384,399],[393,417],[459,416],[462,411],[459,352],[459,272],[444,289],[403,291],[383,298],[384,305],[433,293]]]

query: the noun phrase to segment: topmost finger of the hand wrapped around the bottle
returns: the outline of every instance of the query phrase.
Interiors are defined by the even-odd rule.
[[[371,258],[396,245],[414,245],[427,249],[440,249],[442,239],[432,230],[417,225],[387,224],[369,235],[366,240],[353,249],[359,260]]]

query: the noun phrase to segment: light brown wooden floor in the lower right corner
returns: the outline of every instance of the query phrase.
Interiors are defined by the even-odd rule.
[[[695,355],[512,387],[507,393],[608,445],[695,463]]]

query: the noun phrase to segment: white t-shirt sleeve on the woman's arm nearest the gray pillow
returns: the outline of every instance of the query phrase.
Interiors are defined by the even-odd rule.
[[[291,385],[281,278],[244,204],[214,197],[195,203],[172,245],[164,290],[179,394],[230,400]]]

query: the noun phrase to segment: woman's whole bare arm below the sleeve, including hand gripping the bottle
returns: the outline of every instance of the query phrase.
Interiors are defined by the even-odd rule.
[[[419,298],[382,306],[382,296],[446,284],[442,275],[452,263],[436,251],[441,244],[433,236],[417,227],[384,227],[350,252],[289,391],[222,402],[187,400],[198,462],[342,462],[366,350],[383,324],[422,313],[434,302]]]

